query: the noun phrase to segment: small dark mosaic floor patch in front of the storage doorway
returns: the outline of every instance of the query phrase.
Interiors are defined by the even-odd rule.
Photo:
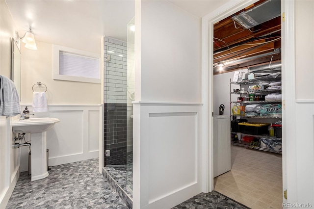
[[[219,192],[198,194],[172,209],[249,209]]]

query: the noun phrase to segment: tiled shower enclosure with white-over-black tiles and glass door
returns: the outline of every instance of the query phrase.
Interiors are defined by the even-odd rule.
[[[104,167],[112,178],[119,176],[115,182],[128,185],[120,187],[131,191],[134,58],[129,43],[111,37],[104,38],[104,49]]]

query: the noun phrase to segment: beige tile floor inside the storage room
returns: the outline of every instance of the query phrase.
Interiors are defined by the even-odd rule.
[[[214,178],[214,190],[252,209],[282,209],[282,156],[231,147],[231,171]]]

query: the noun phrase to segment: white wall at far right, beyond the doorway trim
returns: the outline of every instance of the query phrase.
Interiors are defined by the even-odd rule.
[[[295,0],[295,86],[294,92],[287,92],[287,157],[292,154],[287,166],[288,202],[314,205],[314,1]],[[287,85],[291,85],[287,83]],[[294,94],[295,93],[295,97]],[[295,105],[291,108],[291,103]],[[293,106],[292,106],[293,107]],[[295,135],[291,134],[293,131]],[[290,158],[288,158],[290,159]],[[295,164],[294,164],[295,163]],[[296,188],[291,188],[291,185]],[[289,187],[290,186],[290,187]],[[289,199],[289,193],[290,199]]]

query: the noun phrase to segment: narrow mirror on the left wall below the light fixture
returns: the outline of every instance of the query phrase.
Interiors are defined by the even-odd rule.
[[[11,48],[11,80],[14,82],[16,90],[18,92],[21,101],[21,51],[12,38],[12,48]]]

